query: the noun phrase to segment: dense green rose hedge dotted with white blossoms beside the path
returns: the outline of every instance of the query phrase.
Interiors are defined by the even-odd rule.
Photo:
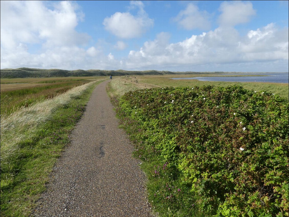
[[[240,86],[128,92],[118,114],[138,128],[214,216],[288,216],[288,101]]]

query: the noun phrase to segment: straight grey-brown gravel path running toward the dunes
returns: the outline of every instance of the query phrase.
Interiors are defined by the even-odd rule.
[[[32,216],[153,216],[146,199],[146,176],[105,91],[92,93],[51,174],[51,183]]]

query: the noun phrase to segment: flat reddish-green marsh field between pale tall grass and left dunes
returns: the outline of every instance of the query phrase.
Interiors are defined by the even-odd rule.
[[[64,93],[93,79],[104,77],[68,77],[68,78],[3,78],[1,79],[0,108],[1,115],[9,115],[22,106],[43,101]]]

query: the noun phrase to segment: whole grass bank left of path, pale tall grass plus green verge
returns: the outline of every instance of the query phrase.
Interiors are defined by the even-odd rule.
[[[1,216],[29,216],[92,90],[102,80],[1,115]]]

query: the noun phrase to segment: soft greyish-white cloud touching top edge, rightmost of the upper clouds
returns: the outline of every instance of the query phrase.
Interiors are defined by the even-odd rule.
[[[240,23],[247,23],[256,14],[251,2],[224,1],[219,10],[222,14],[219,17],[221,26],[235,26]]]

